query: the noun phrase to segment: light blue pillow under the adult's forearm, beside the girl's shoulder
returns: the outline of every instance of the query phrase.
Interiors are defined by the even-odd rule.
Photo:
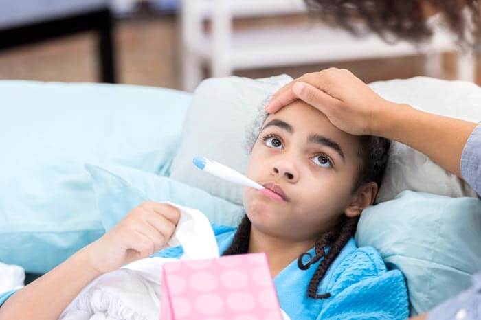
[[[412,191],[366,209],[356,233],[359,247],[376,248],[404,273],[412,315],[471,286],[481,270],[480,239],[480,200]]]

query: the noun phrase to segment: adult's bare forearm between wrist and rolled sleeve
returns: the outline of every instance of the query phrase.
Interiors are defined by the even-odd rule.
[[[407,104],[390,103],[388,108],[383,108],[377,124],[375,135],[407,144],[462,177],[462,150],[476,123],[425,113]]]

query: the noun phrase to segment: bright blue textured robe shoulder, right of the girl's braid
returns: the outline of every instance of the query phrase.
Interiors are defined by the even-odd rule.
[[[353,245],[354,240],[324,278],[324,292],[331,297],[320,319],[406,319],[407,287],[401,271],[388,270],[376,249]]]

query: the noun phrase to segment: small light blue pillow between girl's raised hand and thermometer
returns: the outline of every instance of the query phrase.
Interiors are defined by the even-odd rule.
[[[96,190],[100,218],[106,231],[140,203],[171,201],[199,209],[216,225],[237,227],[244,208],[196,187],[124,166],[85,165]]]

